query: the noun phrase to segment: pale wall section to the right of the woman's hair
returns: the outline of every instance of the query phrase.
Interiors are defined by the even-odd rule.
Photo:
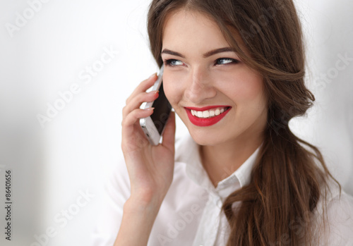
[[[294,129],[320,147],[334,176],[353,194],[353,2],[296,2],[306,35],[306,81],[316,104]]]

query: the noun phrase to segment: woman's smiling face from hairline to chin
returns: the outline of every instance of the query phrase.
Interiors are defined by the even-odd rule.
[[[263,78],[239,60],[217,24],[170,14],[162,37],[164,92],[198,144],[255,140],[267,119]]]

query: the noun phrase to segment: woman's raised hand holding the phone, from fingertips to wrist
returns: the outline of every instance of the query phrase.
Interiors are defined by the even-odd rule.
[[[140,118],[146,118],[152,109],[140,109],[143,102],[152,102],[158,92],[145,92],[157,80],[152,75],[136,87],[126,99],[123,109],[121,149],[131,183],[134,202],[159,207],[172,183],[174,171],[175,115],[170,113],[163,133],[163,142],[153,146],[140,128]],[[130,199],[131,199],[130,197]]]

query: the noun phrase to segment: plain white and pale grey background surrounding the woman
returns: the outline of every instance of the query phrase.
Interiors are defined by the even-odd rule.
[[[121,109],[133,88],[157,71],[145,30],[150,1],[52,0],[37,5],[31,16],[28,8],[34,2],[0,2],[1,208],[4,173],[13,173],[12,240],[1,233],[0,242],[90,245],[104,180],[122,158]],[[330,170],[352,195],[353,61],[346,61],[345,68],[340,62],[340,69],[337,61],[353,58],[353,2],[296,4],[306,35],[306,81],[316,104],[291,127],[322,150]],[[30,18],[11,37],[6,23],[14,24],[18,14]],[[98,64],[106,49],[119,54],[86,84],[80,74]],[[73,84],[80,92],[41,128],[37,114],[45,115],[48,104]],[[184,133],[178,121],[177,135]],[[82,192],[94,197],[79,207]],[[5,212],[0,209],[1,228]],[[70,218],[66,223],[65,213]],[[44,233],[53,236],[47,240]]]

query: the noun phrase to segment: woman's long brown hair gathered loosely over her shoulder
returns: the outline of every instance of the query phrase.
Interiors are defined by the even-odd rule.
[[[251,183],[222,207],[231,230],[227,245],[311,245],[311,214],[319,199],[325,201],[329,178],[335,179],[321,152],[288,125],[315,100],[304,85],[304,45],[293,1],[153,0],[148,35],[159,66],[164,21],[180,8],[213,18],[241,61],[263,75],[268,94],[265,140]],[[236,211],[234,202],[241,202]]]

